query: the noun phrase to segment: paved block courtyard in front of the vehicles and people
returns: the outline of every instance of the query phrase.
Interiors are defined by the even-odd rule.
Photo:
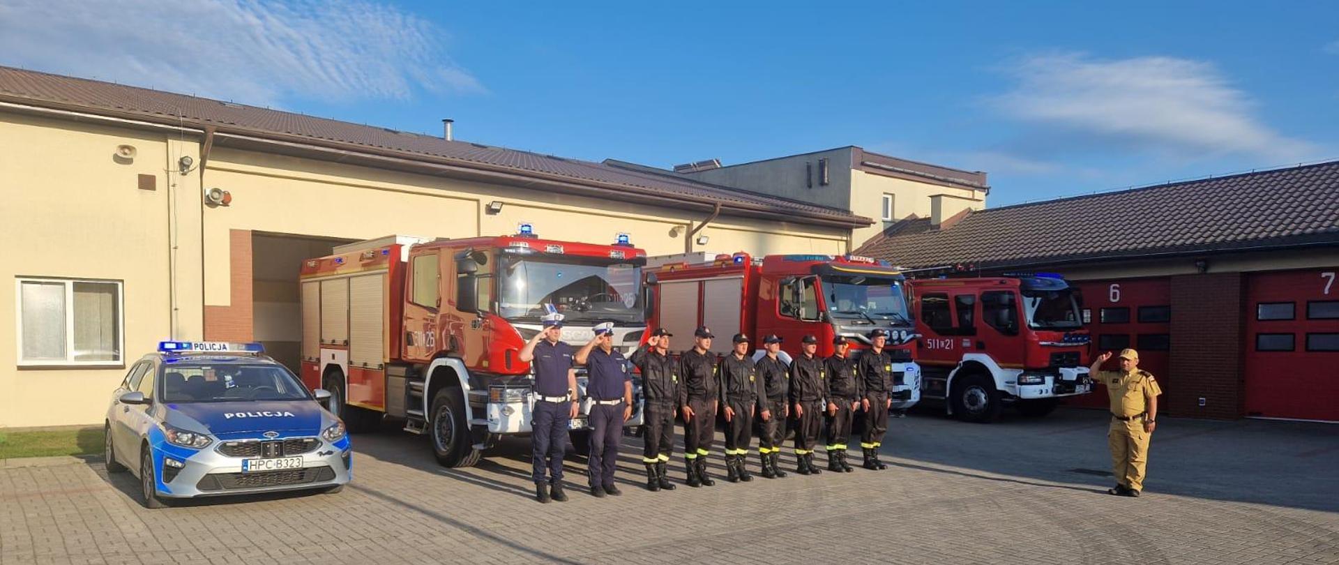
[[[1134,499],[1103,494],[1105,424],[927,411],[892,420],[886,471],[730,485],[714,454],[716,486],[672,493],[639,487],[625,438],[623,497],[585,494],[578,461],[572,501],[550,505],[532,498],[525,442],[447,470],[394,431],[355,436],[356,478],[332,495],[146,510],[96,462],[11,466],[0,562],[1339,562],[1339,427],[1164,418]]]

